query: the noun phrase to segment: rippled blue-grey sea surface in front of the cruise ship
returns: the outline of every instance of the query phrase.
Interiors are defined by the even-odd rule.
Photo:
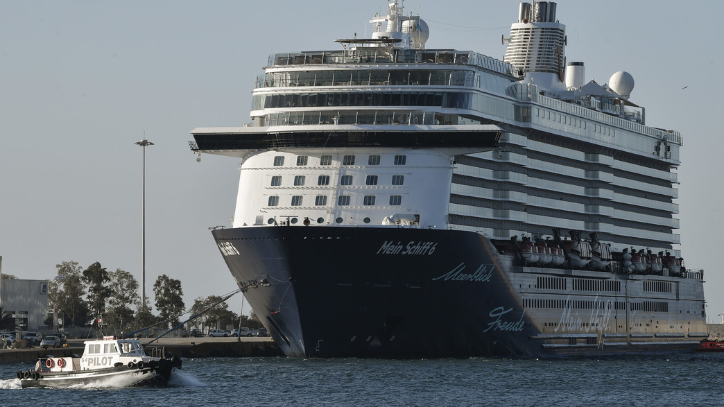
[[[2,406],[720,406],[724,353],[572,359],[184,359],[168,387],[22,389]],[[595,403],[595,404],[592,404]]]

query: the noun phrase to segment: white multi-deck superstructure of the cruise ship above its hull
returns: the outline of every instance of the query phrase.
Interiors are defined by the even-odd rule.
[[[278,151],[261,151],[272,142],[219,151],[245,160],[235,227],[404,222],[492,238],[560,227],[597,232],[619,251],[656,253],[679,243],[672,170],[681,135],[645,126],[644,109],[613,91],[631,92],[626,72],[614,75],[623,85],[609,88],[583,83],[583,63],[573,62],[576,80],[565,83],[565,26],[555,20],[555,3],[521,5],[505,62],[426,50],[413,41],[429,35],[424,21],[403,17],[398,1],[388,11],[372,20],[373,38],[337,40],[341,51],[271,56],[253,91],[253,126],[193,131],[219,140],[260,132],[277,138]],[[319,143],[290,148],[294,137],[279,136],[300,130]],[[501,131],[502,145],[476,153],[491,148],[324,140],[424,131]]]

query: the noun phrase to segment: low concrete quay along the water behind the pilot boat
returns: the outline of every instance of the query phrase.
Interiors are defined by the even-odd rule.
[[[182,358],[214,358],[214,357],[251,357],[251,356],[284,356],[271,337],[162,337],[148,343],[153,338],[142,337],[140,343],[151,355],[154,348],[166,349],[167,356]],[[17,363],[37,361],[46,356],[80,356],[83,354],[83,339],[69,339],[65,348],[43,349],[38,346],[25,349],[0,349],[0,363]]]

